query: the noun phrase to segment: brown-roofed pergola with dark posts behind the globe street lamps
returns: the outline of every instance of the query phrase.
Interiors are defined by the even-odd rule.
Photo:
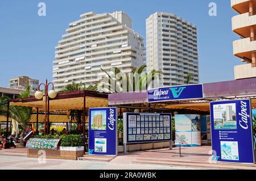
[[[8,102],[8,109],[10,106],[23,106],[32,108],[31,118],[36,119],[36,129],[38,129],[38,123],[40,121],[40,116],[42,113],[47,112],[49,120],[54,119],[56,122],[59,122],[61,119],[68,120],[68,112],[70,110],[82,110],[82,132],[83,139],[85,142],[85,120],[86,120],[86,111],[88,108],[93,107],[108,107],[108,94],[100,93],[96,91],[73,91],[73,92],[64,92],[58,93],[56,98],[49,99],[49,108],[45,110],[45,100],[36,99],[33,97],[28,98],[19,98],[11,99]],[[8,122],[9,122],[9,111],[7,113],[7,125],[6,125],[6,134],[8,135]],[[42,118],[41,118],[42,120]],[[32,121],[34,122],[34,121]],[[63,121],[64,122],[64,121]],[[46,124],[46,120],[44,120]],[[37,130],[38,132],[38,130]]]

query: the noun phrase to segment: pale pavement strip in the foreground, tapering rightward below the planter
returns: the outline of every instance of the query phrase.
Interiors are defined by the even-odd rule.
[[[64,169],[64,170],[176,170],[185,169],[184,167],[172,167],[161,165],[142,165],[133,163],[109,163],[109,162],[90,162],[90,161],[64,161],[57,159],[47,159],[45,163],[39,163],[36,158],[18,157],[13,155],[0,155],[0,170],[18,169]]]

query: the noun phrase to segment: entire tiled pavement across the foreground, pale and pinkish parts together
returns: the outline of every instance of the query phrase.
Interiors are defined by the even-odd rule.
[[[256,169],[255,165],[210,164],[210,151],[210,146],[181,148],[179,157],[179,148],[158,149],[118,154],[110,162],[47,159],[46,164],[38,164],[38,159],[26,158],[26,149],[6,149],[0,150],[0,169]]]

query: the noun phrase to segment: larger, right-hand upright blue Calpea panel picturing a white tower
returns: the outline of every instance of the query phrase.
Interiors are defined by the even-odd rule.
[[[210,103],[213,161],[254,163],[249,99]]]

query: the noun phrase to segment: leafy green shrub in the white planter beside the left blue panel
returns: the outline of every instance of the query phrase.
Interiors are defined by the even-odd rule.
[[[83,146],[82,136],[79,134],[69,134],[61,136],[60,146]]]

